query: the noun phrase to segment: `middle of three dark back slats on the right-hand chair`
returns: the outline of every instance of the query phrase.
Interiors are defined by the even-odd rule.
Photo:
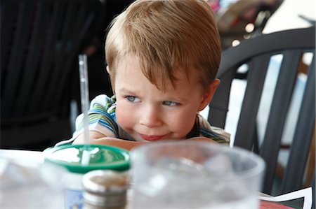
[[[269,165],[266,168],[265,187],[263,192],[270,193],[272,189],[272,181],[274,171],[277,166],[277,157],[279,153],[279,145],[282,139],[284,122],[287,118],[291,96],[296,82],[298,57],[301,57],[301,51],[286,51],[283,53],[281,69],[277,79],[277,86],[272,99],[270,115],[268,117],[267,127],[263,144],[260,148],[260,154]],[[296,59],[295,59],[296,58]],[[291,70],[292,69],[292,70]]]

